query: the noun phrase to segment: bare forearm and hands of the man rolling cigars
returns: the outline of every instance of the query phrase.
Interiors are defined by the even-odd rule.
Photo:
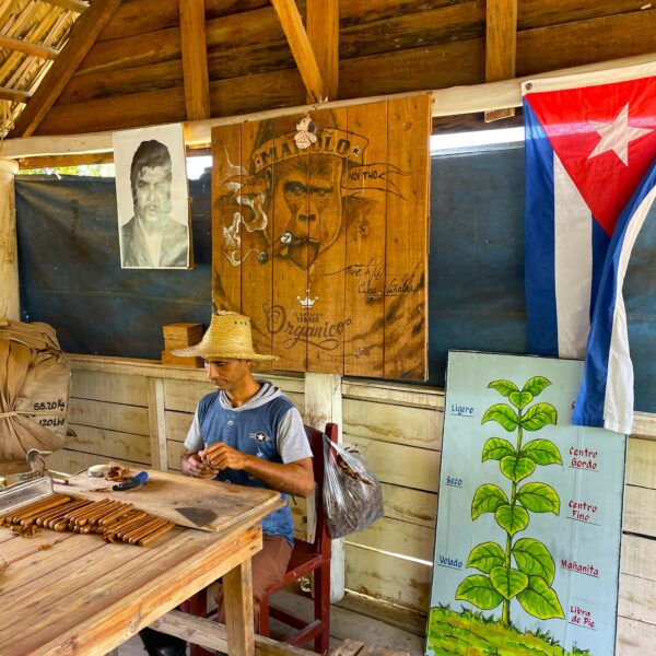
[[[216,473],[216,469],[241,469],[254,476],[268,488],[278,490],[279,492],[286,492],[297,496],[309,496],[314,490],[312,458],[301,458],[286,465],[282,462],[269,462],[257,456],[243,454],[222,442],[212,444],[197,454],[196,457],[200,460],[200,465],[206,464],[206,466],[209,465],[213,468],[210,469],[212,476]],[[202,476],[202,478],[209,477]]]

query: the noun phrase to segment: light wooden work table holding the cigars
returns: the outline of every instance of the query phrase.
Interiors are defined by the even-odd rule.
[[[261,518],[284,503],[280,494],[149,473],[149,488],[109,495],[163,517],[172,504],[196,499],[212,507],[202,494],[219,495],[216,526],[176,527],[147,547],[44,529],[26,539],[0,528],[0,559],[9,564],[0,573],[3,656],[106,654],[220,576],[229,651],[254,653],[250,558],[261,549]],[[70,485],[56,488],[87,496],[94,494],[84,490],[87,482],[73,477]],[[96,479],[93,487],[106,484]]]

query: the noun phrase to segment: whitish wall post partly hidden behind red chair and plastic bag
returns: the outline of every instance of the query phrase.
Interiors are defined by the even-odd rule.
[[[339,426],[339,441],[342,438],[341,376],[339,374],[305,374],[305,423],[323,431],[326,423]],[[313,504],[307,504],[307,525],[314,526]],[[308,539],[312,539],[308,536]],[[330,604],[344,596],[344,541],[332,540],[330,562]]]

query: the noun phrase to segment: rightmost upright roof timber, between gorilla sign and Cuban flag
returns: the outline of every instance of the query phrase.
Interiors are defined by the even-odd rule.
[[[517,54],[517,0],[487,0],[485,82],[515,77]],[[485,112],[485,122],[515,116],[515,109]]]

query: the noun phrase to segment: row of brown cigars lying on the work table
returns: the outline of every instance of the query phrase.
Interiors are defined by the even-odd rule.
[[[175,523],[138,511],[131,503],[110,499],[91,501],[55,493],[11,511],[0,517],[0,526],[25,537],[35,535],[37,527],[42,527],[94,532],[102,535],[106,542],[143,547],[171,530]]]

